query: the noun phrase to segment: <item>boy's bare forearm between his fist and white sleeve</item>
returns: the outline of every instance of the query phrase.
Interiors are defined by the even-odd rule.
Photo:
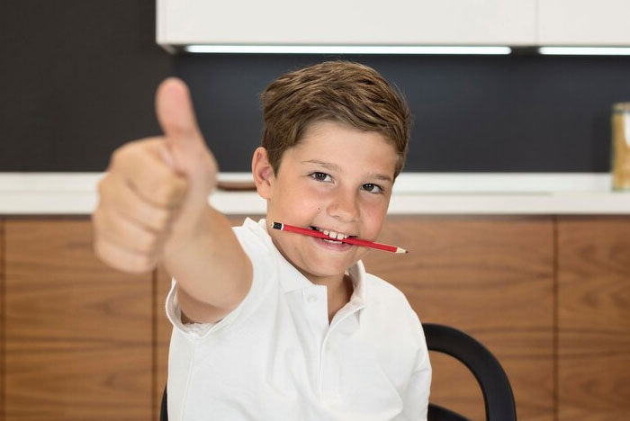
[[[177,281],[177,299],[184,314],[197,322],[224,317],[245,298],[252,266],[238,243],[229,219],[218,210],[204,210],[199,232],[165,255],[166,270]]]

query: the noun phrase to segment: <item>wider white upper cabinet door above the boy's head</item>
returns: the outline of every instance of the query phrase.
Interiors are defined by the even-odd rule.
[[[157,0],[163,46],[535,42],[536,0]]]

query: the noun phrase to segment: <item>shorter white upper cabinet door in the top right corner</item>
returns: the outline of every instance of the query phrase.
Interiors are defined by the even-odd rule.
[[[630,45],[630,0],[537,0],[538,45]]]

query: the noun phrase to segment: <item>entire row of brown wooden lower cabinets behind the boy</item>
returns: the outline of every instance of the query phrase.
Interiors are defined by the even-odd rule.
[[[240,224],[242,217],[232,217]],[[424,322],[497,355],[521,420],[630,417],[630,218],[387,220],[369,272]],[[0,421],[157,419],[166,384],[170,277],[118,273],[87,218],[0,219]],[[432,355],[431,399],[482,419],[473,376]]]

